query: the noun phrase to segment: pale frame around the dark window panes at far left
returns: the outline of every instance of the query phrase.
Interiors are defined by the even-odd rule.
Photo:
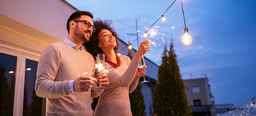
[[[0,53],[17,57],[17,63],[16,63],[17,69],[16,69],[14,100],[13,100],[13,116],[22,116],[26,59],[38,62],[40,54],[29,52],[23,49],[19,49],[19,48],[1,44],[1,43],[0,43]],[[47,100],[46,100],[46,106],[47,106]]]

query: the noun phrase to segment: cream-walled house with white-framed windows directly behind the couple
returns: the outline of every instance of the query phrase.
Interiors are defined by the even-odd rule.
[[[0,116],[44,116],[47,99],[37,97],[34,92],[40,53],[47,45],[67,37],[67,19],[77,9],[65,0],[0,0],[0,3]],[[126,45],[120,41],[120,48]],[[127,51],[121,54],[126,55]],[[150,83],[142,84],[142,94],[150,116],[158,66],[147,58],[145,62],[146,79]]]

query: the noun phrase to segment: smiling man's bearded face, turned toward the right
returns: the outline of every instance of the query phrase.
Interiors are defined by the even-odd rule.
[[[94,25],[93,19],[87,15],[81,15],[81,18],[79,20],[86,20],[91,25]],[[89,41],[89,38],[91,37],[93,33],[93,27],[86,27],[84,22],[77,22],[75,29],[74,29],[74,35],[78,38],[80,38],[84,43],[87,43]]]

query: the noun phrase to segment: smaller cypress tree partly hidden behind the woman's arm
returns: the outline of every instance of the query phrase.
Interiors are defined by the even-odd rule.
[[[128,49],[127,56],[132,60],[133,56],[131,55],[132,51]],[[133,116],[146,116],[146,106],[144,104],[144,96],[141,92],[141,84],[138,84],[136,89],[129,94],[131,110]]]

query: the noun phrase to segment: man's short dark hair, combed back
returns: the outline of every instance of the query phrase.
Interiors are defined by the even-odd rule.
[[[87,11],[76,11],[74,13],[72,13],[69,18],[67,19],[67,32],[69,33],[69,22],[71,20],[78,20],[80,19],[81,15],[87,15],[89,17],[91,17],[92,19],[94,18],[93,14]]]

